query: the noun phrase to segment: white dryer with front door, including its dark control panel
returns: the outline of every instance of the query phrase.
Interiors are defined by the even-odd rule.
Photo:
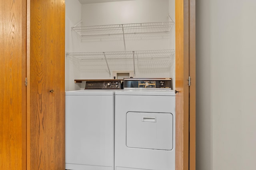
[[[115,170],[175,170],[175,93],[169,83],[124,79],[124,89],[116,91]]]

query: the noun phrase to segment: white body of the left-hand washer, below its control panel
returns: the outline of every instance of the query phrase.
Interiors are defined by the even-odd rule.
[[[66,169],[114,170],[114,93],[66,92]]]

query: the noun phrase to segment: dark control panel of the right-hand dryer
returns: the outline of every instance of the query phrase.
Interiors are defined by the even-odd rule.
[[[172,79],[171,78],[124,79],[124,88],[170,88],[172,89]]]

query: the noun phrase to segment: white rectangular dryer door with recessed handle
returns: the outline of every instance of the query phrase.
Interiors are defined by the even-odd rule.
[[[172,113],[128,112],[126,114],[126,146],[172,150]]]

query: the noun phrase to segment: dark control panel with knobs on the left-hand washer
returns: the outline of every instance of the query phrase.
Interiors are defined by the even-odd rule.
[[[86,81],[84,89],[121,89],[121,80]]]

